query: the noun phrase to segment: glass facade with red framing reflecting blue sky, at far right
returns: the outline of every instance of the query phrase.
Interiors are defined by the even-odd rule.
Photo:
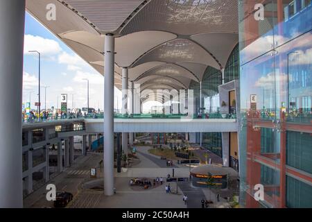
[[[262,18],[257,3],[239,1],[240,201],[312,207],[311,1],[263,1]]]

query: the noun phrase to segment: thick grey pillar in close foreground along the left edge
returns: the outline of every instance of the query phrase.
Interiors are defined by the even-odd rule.
[[[1,0],[0,15],[0,207],[23,207],[21,95],[25,0]]]

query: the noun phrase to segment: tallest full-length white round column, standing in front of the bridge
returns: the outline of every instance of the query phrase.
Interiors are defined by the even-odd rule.
[[[113,34],[105,35],[104,81],[104,194],[114,194],[114,47]]]

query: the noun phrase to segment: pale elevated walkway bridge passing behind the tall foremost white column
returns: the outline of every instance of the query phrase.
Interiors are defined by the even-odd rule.
[[[85,130],[86,133],[103,133],[102,118],[49,119],[23,123],[24,130],[62,126],[62,132]],[[83,127],[81,127],[83,123]],[[76,125],[73,127],[66,127]],[[79,126],[77,128],[77,126]],[[236,132],[236,119],[193,119],[186,116],[174,118],[114,118],[115,133],[198,133]]]

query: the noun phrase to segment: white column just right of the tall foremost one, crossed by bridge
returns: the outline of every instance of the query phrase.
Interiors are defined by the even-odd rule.
[[[123,68],[122,69],[122,107],[121,107],[121,114],[127,114],[128,113],[128,69]],[[128,133],[122,133],[121,135],[121,146],[123,147],[123,153],[125,155],[128,155]]]

